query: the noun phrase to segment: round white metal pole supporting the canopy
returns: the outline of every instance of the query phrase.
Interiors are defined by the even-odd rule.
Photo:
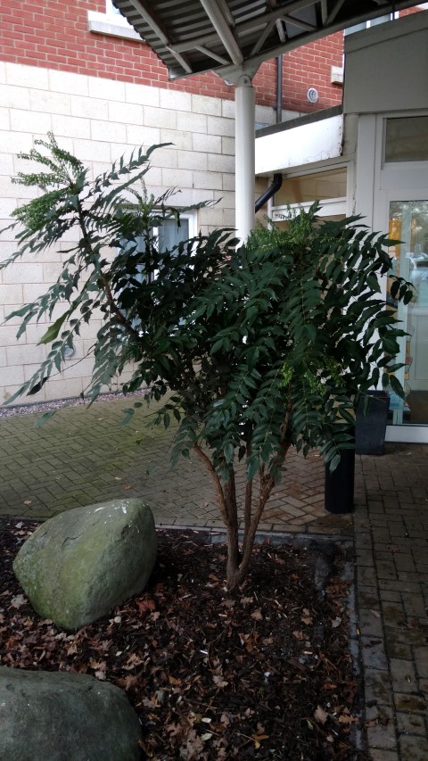
[[[238,79],[235,89],[235,227],[245,241],[254,227],[255,211],[255,97],[251,78]]]

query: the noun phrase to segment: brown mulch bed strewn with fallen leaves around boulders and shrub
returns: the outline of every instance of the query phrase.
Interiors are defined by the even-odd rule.
[[[320,592],[319,550],[261,544],[231,594],[223,545],[160,530],[144,593],[70,633],[34,613],[12,573],[35,526],[0,519],[2,665],[117,684],[140,716],[144,759],[365,757],[352,741],[358,680],[340,554]]]

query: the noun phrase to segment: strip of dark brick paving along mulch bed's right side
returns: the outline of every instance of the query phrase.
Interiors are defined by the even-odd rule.
[[[362,457],[356,504],[359,625],[373,761],[428,758],[428,447]],[[366,586],[370,584],[370,586]]]

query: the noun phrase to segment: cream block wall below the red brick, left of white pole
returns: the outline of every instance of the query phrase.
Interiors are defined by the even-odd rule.
[[[30,188],[12,184],[13,175],[30,168],[17,154],[28,152],[34,139],[45,138],[48,130],[60,145],[89,164],[94,175],[135,147],[172,143],[152,155],[149,190],[161,194],[177,187],[181,191],[177,206],[217,201],[213,209],[198,212],[196,223],[202,232],[234,226],[234,103],[13,62],[0,62],[0,103],[0,228],[9,224],[12,210],[32,194]],[[258,106],[257,118],[272,122],[275,112]],[[45,346],[37,345],[45,333],[45,321],[29,325],[17,341],[19,318],[6,324],[4,318],[55,282],[66,248],[64,241],[57,250],[43,256],[28,255],[0,272],[0,404],[33,374],[46,352]],[[0,236],[0,257],[5,259],[14,250],[13,236],[6,231]],[[56,374],[40,393],[22,401],[81,393],[92,368],[86,352],[100,324],[95,321],[76,342],[76,354],[68,360],[64,373]]]

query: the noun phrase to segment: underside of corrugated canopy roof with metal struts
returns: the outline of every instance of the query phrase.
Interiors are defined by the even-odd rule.
[[[113,0],[170,79],[214,70],[251,77],[260,63],[415,0]]]

